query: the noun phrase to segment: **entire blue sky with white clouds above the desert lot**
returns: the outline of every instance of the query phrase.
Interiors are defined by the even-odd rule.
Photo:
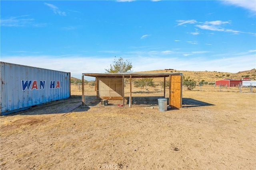
[[[256,1],[1,1],[1,61],[104,73],[256,67]]]

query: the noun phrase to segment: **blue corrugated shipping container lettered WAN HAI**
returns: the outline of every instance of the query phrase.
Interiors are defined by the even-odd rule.
[[[0,62],[1,115],[70,97],[70,72]]]

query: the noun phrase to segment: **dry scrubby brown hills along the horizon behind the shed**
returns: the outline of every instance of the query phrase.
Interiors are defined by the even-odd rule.
[[[256,69],[240,71],[237,73],[230,72],[217,72],[217,71],[187,71],[187,70],[175,70],[175,69],[165,69],[165,70],[151,70],[151,71],[142,71],[140,73],[161,73],[161,72],[182,72],[183,76],[190,76],[191,79],[194,79],[196,82],[204,80],[205,82],[215,82],[215,80],[222,79],[233,79],[240,80],[246,77],[249,77],[251,80],[256,80]],[[78,78],[71,77],[71,82],[82,82]]]

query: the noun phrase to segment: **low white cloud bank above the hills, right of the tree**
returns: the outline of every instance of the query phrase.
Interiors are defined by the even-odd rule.
[[[132,64],[135,72],[170,67],[177,70],[239,72],[255,68],[255,56],[246,55],[222,59],[209,59],[208,57],[191,59],[187,57],[137,57],[136,63]]]

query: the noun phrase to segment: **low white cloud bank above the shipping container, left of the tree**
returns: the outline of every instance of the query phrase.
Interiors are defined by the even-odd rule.
[[[104,68],[112,64],[113,59],[99,57],[84,57],[76,55],[65,56],[12,56],[1,57],[1,61],[22,64],[38,68],[71,72],[72,77],[80,78],[84,72],[104,73]],[[61,61],[61,62],[60,62]]]

